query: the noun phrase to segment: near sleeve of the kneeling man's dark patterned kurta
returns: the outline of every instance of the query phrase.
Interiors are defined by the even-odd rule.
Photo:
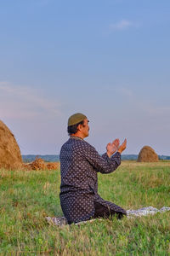
[[[121,164],[121,154],[119,152],[116,152],[111,158],[109,158],[106,153],[101,156],[90,144],[84,149],[84,155],[96,172],[114,172]]]

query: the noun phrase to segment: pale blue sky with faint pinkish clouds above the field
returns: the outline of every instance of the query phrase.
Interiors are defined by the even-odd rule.
[[[82,112],[99,153],[170,155],[169,45],[169,0],[0,1],[0,119],[22,154],[59,154]]]

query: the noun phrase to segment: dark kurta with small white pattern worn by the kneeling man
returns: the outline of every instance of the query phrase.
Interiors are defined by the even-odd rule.
[[[98,195],[97,172],[114,172],[121,164],[121,154],[111,158],[98,154],[93,146],[80,137],[70,137],[59,154],[61,184],[60,205],[69,224],[95,218],[94,205],[108,208],[111,212],[126,211]]]

